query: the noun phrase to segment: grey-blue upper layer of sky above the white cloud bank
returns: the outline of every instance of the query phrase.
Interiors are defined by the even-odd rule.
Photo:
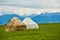
[[[0,6],[18,6],[27,8],[60,8],[60,0],[0,0]]]

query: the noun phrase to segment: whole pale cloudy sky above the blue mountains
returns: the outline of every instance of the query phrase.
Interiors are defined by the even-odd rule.
[[[60,11],[60,0],[0,0],[0,15],[40,14],[45,11]]]

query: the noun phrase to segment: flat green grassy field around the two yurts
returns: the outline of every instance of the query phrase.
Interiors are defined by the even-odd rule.
[[[39,24],[39,29],[5,32],[0,26],[0,40],[60,40],[60,23]]]

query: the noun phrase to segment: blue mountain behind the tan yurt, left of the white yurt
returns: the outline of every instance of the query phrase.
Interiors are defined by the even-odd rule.
[[[6,14],[6,15],[0,16],[0,24],[7,24],[9,20],[13,17],[18,17],[20,20],[24,19],[24,17],[16,15],[16,14]]]

